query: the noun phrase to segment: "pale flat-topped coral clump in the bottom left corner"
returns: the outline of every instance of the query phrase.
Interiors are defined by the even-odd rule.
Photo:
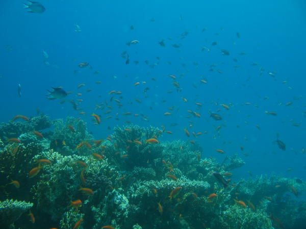
[[[14,228],[13,223],[33,207],[32,203],[6,199],[0,201],[0,221],[2,228]]]

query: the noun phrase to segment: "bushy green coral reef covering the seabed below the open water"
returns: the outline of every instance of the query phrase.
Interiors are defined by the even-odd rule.
[[[34,134],[51,124],[43,137]],[[93,229],[261,229],[294,228],[306,220],[306,203],[299,199],[305,182],[277,176],[230,182],[233,170],[245,164],[237,154],[218,163],[191,142],[162,142],[158,128],[116,127],[95,140],[80,119],[39,116],[0,124],[0,134],[6,228],[22,227],[18,218],[30,208],[33,228],[48,222],[67,229],[76,223]]]

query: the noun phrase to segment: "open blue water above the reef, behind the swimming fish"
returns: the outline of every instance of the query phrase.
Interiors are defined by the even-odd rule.
[[[237,152],[246,164],[236,171],[236,178],[247,178],[247,171],[253,175],[276,173],[305,178],[303,1],[56,0],[41,1],[46,8],[43,14],[27,13],[22,3],[3,1],[0,8],[1,122],[8,122],[17,114],[35,116],[39,109],[52,119],[84,119],[96,138],[107,137],[114,126],[125,125],[126,121],[141,126],[165,125],[173,134],[164,133],[162,140],[195,140],[203,148],[203,157],[222,161],[226,155]],[[82,32],[74,31],[75,24]],[[188,35],[182,39],[184,32]],[[166,47],[158,44],[162,39]],[[131,40],[139,43],[127,46]],[[212,42],[218,44],[212,46]],[[174,48],[172,44],[181,47]],[[201,51],[203,46],[210,51]],[[230,51],[230,55],[222,55],[220,49]],[[49,55],[49,66],[44,64],[43,50]],[[121,58],[123,51],[130,55],[128,65]],[[240,55],[241,52],[246,54]],[[146,60],[156,66],[149,67]],[[81,62],[88,62],[92,69],[79,68]],[[259,65],[252,66],[254,62]],[[215,71],[210,71],[213,64]],[[235,70],[235,65],[240,67]],[[94,74],[95,71],[99,73]],[[274,76],[269,72],[275,72]],[[176,92],[170,74],[176,76],[181,92]],[[208,83],[200,83],[201,79]],[[135,87],[138,81],[140,85]],[[17,94],[18,83],[21,98]],[[86,86],[78,89],[80,83]],[[47,89],[58,86],[73,92],[63,104],[45,97]],[[145,97],[146,87],[149,90]],[[88,93],[87,89],[92,91]],[[111,90],[122,92],[114,97],[122,107],[110,102]],[[173,92],[167,93],[169,90]],[[142,103],[135,102],[136,98]],[[69,102],[72,99],[84,100],[79,107],[86,115],[73,110]],[[107,109],[95,110],[96,104],[106,101],[113,107],[110,114],[104,113]],[[202,107],[197,109],[195,102],[202,103]],[[246,102],[251,104],[245,105]],[[287,102],[292,105],[286,106]],[[232,106],[225,110],[221,103]],[[171,106],[175,106],[173,111],[168,110]],[[209,112],[218,109],[222,121],[210,118]],[[187,110],[201,113],[201,118],[186,118],[190,115]],[[266,115],[266,110],[277,112],[277,116]],[[163,115],[167,111],[172,112],[170,117]],[[93,125],[93,112],[101,116],[99,126]],[[143,114],[148,121],[141,116],[123,116],[124,112]],[[119,120],[115,120],[116,113]],[[109,115],[112,118],[106,119]],[[177,126],[172,127],[171,123]],[[215,130],[219,125],[220,134]],[[184,128],[207,134],[188,138]],[[275,144],[277,133],[285,142],[286,151]],[[225,154],[219,155],[216,149]]]

